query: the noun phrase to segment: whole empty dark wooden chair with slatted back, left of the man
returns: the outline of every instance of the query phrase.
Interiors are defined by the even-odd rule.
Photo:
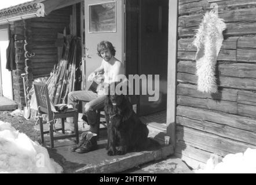
[[[45,83],[33,83],[34,90],[35,90],[35,97],[36,103],[38,106],[38,113],[39,113],[39,124],[40,124],[40,132],[41,132],[41,139],[42,143],[44,143],[43,135],[50,133],[50,146],[54,147],[54,140],[57,139],[65,139],[65,138],[76,138],[76,143],[79,142],[79,133],[78,133],[78,110],[68,109],[65,113],[55,112],[53,111],[55,108],[53,104],[50,102],[49,92],[47,84]],[[43,131],[43,120],[42,114],[47,114],[47,122],[50,124],[49,131]],[[62,131],[65,134],[65,127],[64,127],[64,120],[67,117],[74,117],[74,128],[75,134],[69,135],[62,135],[62,136],[53,136],[53,124],[55,119],[61,119],[62,128],[56,129],[56,131]]]

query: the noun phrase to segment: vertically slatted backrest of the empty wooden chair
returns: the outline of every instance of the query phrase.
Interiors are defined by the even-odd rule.
[[[53,117],[47,84],[34,82],[33,86],[38,112],[40,114],[48,114],[49,118]]]

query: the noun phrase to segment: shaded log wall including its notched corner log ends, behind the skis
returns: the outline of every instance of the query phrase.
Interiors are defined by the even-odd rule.
[[[10,34],[15,35],[16,71],[13,71],[14,101],[19,109],[25,106],[22,73],[27,73],[28,90],[32,87],[32,80],[37,77],[49,76],[54,64],[57,64],[57,33],[63,33],[65,27],[69,29],[72,6],[54,10],[45,17],[15,21],[10,24]],[[26,60],[24,57],[24,24],[27,29],[26,50],[35,53],[34,57]]]

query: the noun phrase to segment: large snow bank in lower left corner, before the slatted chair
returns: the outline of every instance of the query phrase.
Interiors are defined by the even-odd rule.
[[[0,173],[61,173],[63,168],[50,159],[47,150],[0,121]]]

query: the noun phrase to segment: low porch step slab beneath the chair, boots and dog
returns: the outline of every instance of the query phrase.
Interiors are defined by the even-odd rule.
[[[174,153],[173,146],[160,145],[151,147],[147,151],[127,153],[124,156],[108,156],[105,146],[107,144],[107,132],[100,131],[98,150],[85,154],[71,151],[75,146],[74,139],[62,139],[54,141],[54,148],[50,148],[49,137],[45,137],[49,155],[58,162],[64,173],[117,173],[123,172],[135,166],[151,161],[162,160]]]

